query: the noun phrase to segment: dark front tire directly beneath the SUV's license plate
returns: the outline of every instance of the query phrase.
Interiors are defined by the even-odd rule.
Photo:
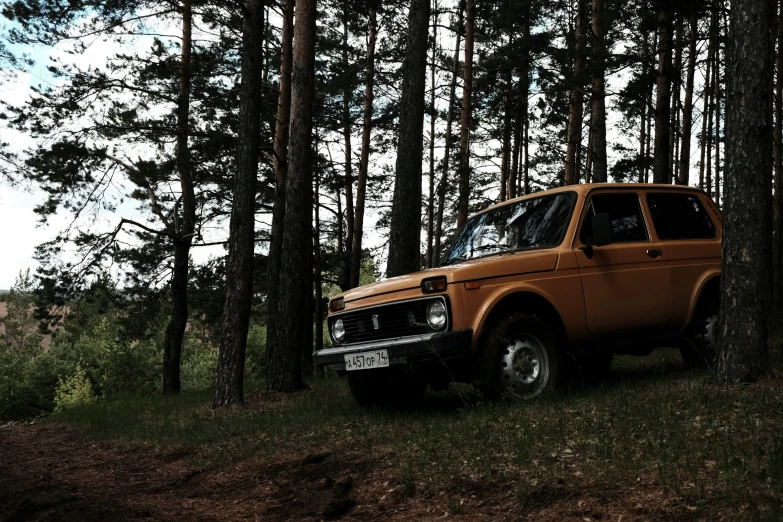
[[[412,405],[427,391],[427,381],[396,368],[348,373],[351,395],[361,406]]]

